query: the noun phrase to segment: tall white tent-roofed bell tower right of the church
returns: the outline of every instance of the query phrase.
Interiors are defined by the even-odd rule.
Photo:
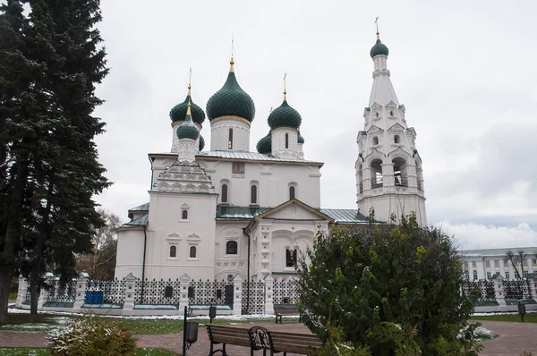
[[[399,104],[390,81],[388,53],[377,30],[377,42],[370,52],[373,86],[369,106],[363,110],[363,131],[356,139],[356,202],[365,216],[374,208],[379,221],[389,221],[392,214],[398,220],[413,211],[418,223],[427,225],[416,131],[408,127],[405,106]]]

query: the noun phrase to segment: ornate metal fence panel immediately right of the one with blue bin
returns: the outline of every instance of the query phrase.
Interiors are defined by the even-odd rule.
[[[143,287],[143,288],[142,288]],[[142,290],[143,289],[143,290]],[[140,304],[179,304],[180,282],[178,279],[159,281],[137,279],[134,284],[134,302]]]

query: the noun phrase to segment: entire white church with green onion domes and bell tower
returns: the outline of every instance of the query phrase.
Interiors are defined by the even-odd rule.
[[[255,105],[235,77],[232,56],[226,82],[205,112],[190,83],[184,101],[171,109],[171,149],[149,153],[149,202],[131,208],[131,221],[118,230],[115,277],[286,280],[317,233],[368,224],[371,208],[379,222],[414,211],[426,225],[416,131],[397,100],[379,32],[370,55],[371,97],[356,139],[356,209],[322,208],[323,163],[304,157],[303,120],[286,89],[268,115],[267,135],[250,151]],[[207,121],[210,149],[204,150],[200,131]]]

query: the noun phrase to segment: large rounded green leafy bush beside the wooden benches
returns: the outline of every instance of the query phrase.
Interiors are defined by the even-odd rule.
[[[460,292],[452,240],[420,227],[413,214],[401,220],[316,237],[298,267],[303,320],[325,342],[335,326],[343,343],[373,355],[476,354],[473,334],[459,336],[473,300]]]

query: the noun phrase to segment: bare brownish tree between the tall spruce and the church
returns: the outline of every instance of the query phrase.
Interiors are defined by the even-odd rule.
[[[98,213],[106,224],[95,229],[93,252],[79,256],[77,267],[80,271],[88,272],[94,279],[109,279],[114,276],[117,228],[121,225],[121,220],[119,216],[104,209],[99,209]]]

